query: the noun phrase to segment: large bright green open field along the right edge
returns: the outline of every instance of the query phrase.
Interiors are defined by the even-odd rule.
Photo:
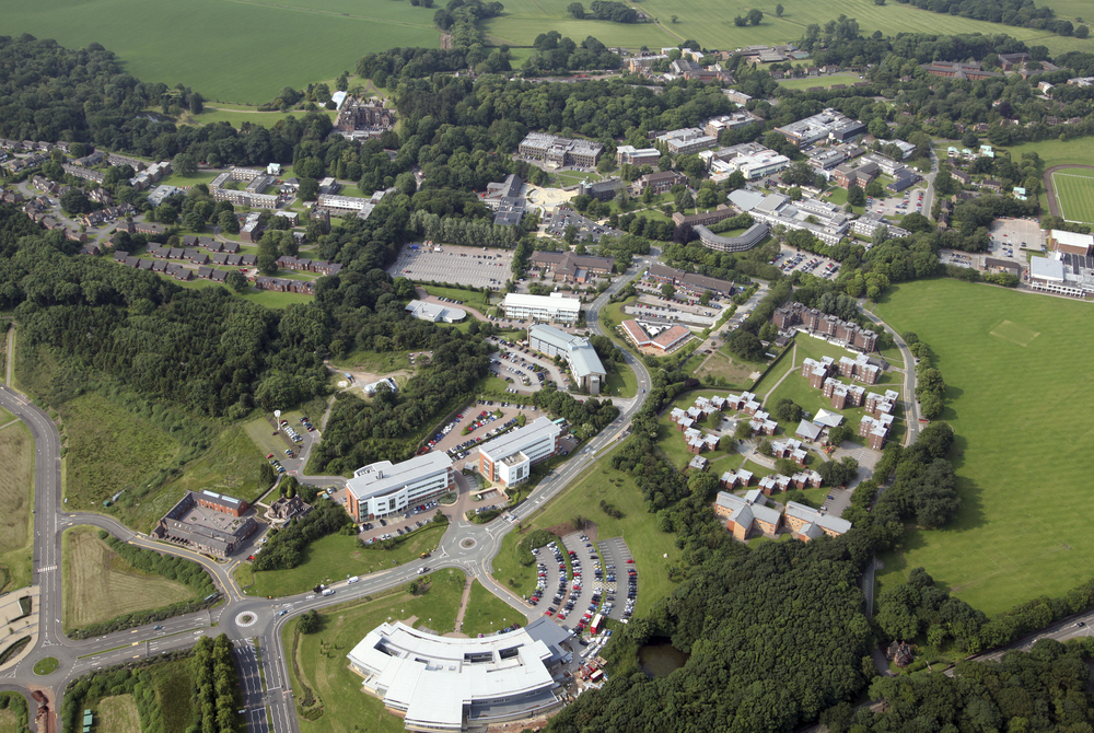
[[[883,586],[922,566],[990,615],[1085,582],[1094,406],[1085,394],[1090,342],[1075,335],[1094,327],[1094,313],[956,280],[903,284],[876,312],[939,354],[963,499],[950,526],[912,531],[901,555],[882,558]]]

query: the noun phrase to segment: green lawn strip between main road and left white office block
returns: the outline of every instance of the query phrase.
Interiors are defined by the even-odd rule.
[[[303,562],[292,570],[252,573],[249,566],[246,566],[242,577],[237,574],[236,579],[243,584],[248,582],[248,575],[253,578],[254,584],[244,587],[247,595],[279,597],[303,593],[316,583],[333,583],[350,575],[366,575],[409,562],[427,550],[433,551],[446,527],[447,525],[426,525],[391,550],[360,547],[356,536],[327,535],[312,543],[304,550]]]

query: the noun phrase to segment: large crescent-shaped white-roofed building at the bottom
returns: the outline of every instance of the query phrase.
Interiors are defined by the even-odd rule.
[[[554,674],[572,659],[570,638],[548,618],[479,639],[382,624],[347,654],[364,691],[404,718],[408,731],[486,730],[560,707]]]

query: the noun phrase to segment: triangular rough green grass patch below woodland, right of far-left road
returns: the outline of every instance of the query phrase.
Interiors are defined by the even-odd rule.
[[[66,403],[61,416],[69,511],[102,511],[103,501],[138,486],[178,453],[171,437],[94,393]]]

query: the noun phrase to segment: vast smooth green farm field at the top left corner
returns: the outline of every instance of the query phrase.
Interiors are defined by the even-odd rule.
[[[213,103],[261,104],[286,85],[301,89],[352,71],[370,50],[437,48],[440,35],[433,27],[434,12],[387,0],[286,0],[277,4],[59,0],[5,8],[0,32],[31,33],[73,48],[100,43],[141,81],[168,86],[183,83]],[[120,18],[126,22],[118,23]],[[241,28],[260,37],[267,51],[257,53],[254,44],[240,43]],[[301,43],[302,38],[322,38],[322,53]]]

